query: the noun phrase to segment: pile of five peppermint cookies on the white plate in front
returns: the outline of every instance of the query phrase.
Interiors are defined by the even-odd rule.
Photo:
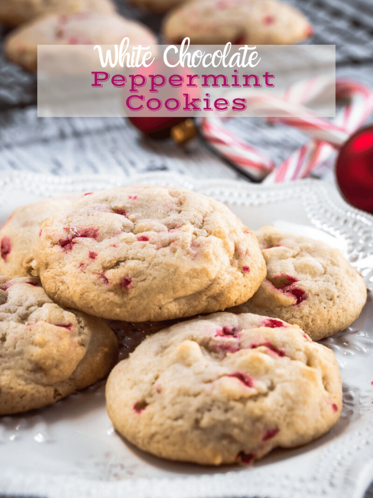
[[[313,340],[349,326],[367,294],[337,249],[271,227],[254,234],[185,189],[131,186],[18,208],[0,251],[2,414],[111,371],[120,434],[212,465],[307,443],[340,416],[334,354]],[[172,319],[114,367],[107,320]]]

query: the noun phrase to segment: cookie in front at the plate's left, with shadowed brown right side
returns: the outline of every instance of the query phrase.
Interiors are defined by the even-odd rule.
[[[107,375],[115,334],[97,318],[64,309],[38,278],[0,277],[0,414],[55,403]]]

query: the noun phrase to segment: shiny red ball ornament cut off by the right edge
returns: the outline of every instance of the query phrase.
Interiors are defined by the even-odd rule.
[[[373,126],[354,133],[340,149],[336,162],[338,185],[353,206],[373,213]]]

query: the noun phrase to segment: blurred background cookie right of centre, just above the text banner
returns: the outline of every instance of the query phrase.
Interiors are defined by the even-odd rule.
[[[191,0],[163,25],[166,43],[277,45],[299,43],[312,26],[299,10],[278,0]]]

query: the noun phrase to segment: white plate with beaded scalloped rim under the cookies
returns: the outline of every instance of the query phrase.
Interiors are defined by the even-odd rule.
[[[348,206],[331,185],[301,180],[253,185],[170,173],[137,177],[0,180],[0,223],[18,205],[49,195],[130,183],[183,186],[223,201],[252,229],[265,224],[339,247],[373,287],[373,217]],[[209,468],[167,462],[125,443],[106,415],[104,382],[55,405],[0,419],[0,492],[47,498],[360,498],[373,477],[373,304],[346,331],[324,341],[344,381],[336,426],[294,450],[276,450],[253,467]]]

